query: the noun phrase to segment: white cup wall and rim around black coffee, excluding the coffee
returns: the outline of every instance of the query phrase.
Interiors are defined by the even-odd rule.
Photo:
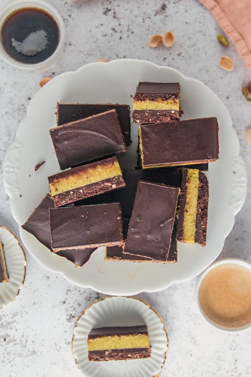
[[[14,11],[17,11],[18,9],[23,8],[38,8],[42,9],[43,11],[46,11],[51,15],[51,17],[56,21],[59,29],[59,43],[56,50],[53,52],[53,54],[47,58],[44,61],[41,61],[37,64],[26,64],[21,63],[20,61],[17,61],[13,59],[11,56],[7,54],[5,49],[3,48],[3,45],[0,41],[0,57],[7,61],[7,63],[11,64],[14,67],[26,69],[26,70],[40,70],[44,71],[47,70],[58,62],[59,58],[61,57],[63,50],[64,50],[64,42],[65,42],[65,27],[64,27],[64,21],[62,20],[61,15],[59,12],[52,6],[50,3],[47,3],[44,0],[17,0],[14,2],[9,3],[4,8],[0,9],[0,30],[2,29],[2,25],[8,17],[9,14],[11,14]]]

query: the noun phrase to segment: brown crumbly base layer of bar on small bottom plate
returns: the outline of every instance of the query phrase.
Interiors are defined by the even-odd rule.
[[[146,359],[150,356],[150,348],[104,349],[88,352],[88,359],[91,361]]]

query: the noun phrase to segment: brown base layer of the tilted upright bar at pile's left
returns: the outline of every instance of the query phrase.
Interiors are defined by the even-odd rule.
[[[103,179],[99,182],[94,182],[89,185],[78,187],[77,189],[68,190],[60,194],[52,196],[54,207],[61,207],[61,205],[70,204],[81,199],[89,198],[90,196],[99,195],[110,190],[119,189],[125,186],[122,175],[112,178]]]

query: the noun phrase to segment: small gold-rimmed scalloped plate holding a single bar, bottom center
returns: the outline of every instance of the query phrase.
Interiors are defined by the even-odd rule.
[[[92,328],[145,324],[151,345],[148,359],[88,360],[87,338]],[[71,345],[76,364],[86,377],[152,377],[164,365],[168,337],[163,320],[146,302],[135,297],[105,297],[91,304],[78,318]]]

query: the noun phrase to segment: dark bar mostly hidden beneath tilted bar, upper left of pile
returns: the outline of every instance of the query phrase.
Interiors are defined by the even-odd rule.
[[[130,107],[120,104],[81,104],[81,103],[58,103],[57,106],[57,125],[73,122],[89,116],[100,114],[109,110],[116,110],[119,123],[125,138],[126,146],[131,143],[131,118]]]

